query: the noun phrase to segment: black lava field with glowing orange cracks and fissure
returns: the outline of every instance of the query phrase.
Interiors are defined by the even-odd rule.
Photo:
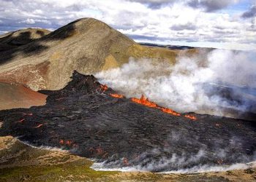
[[[34,146],[67,149],[107,168],[170,171],[233,165],[254,157],[255,122],[170,114],[113,97],[118,93],[92,75],[75,71],[71,79],[61,90],[39,91],[48,95],[45,106],[0,111],[0,134]]]

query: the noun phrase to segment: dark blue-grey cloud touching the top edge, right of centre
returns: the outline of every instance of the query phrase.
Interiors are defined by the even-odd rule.
[[[224,9],[225,7],[228,7],[230,4],[235,4],[237,2],[237,0],[191,0],[188,1],[188,4],[190,7],[203,8],[206,10],[206,12],[214,12],[219,9]]]

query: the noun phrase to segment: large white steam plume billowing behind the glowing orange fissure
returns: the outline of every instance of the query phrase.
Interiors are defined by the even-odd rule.
[[[174,65],[167,60],[130,58],[121,68],[96,76],[127,97],[143,94],[179,112],[234,116],[234,111],[256,113],[255,55],[200,50],[194,56],[178,56]]]

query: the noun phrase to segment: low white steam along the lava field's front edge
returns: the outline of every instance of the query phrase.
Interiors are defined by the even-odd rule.
[[[118,170],[118,171],[157,171],[160,173],[205,173],[212,171],[226,171],[247,169],[256,165],[256,151],[246,155],[238,152],[242,149],[241,138],[233,136],[228,145],[222,146],[222,140],[213,143],[213,151],[208,151],[196,138],[181,135],[179,132],[171,132],[167,137],[170,146],[163,149],[145,151],[136,159],[129,161],[130,166],[123,165],[123,159],[115,161],[96,162],[92,166],[94,170]],[[178,143],[198,143],[202,146],[197,152],[178,150],[173,152],[173,145]],[[214,161],[229,161],[229,165],[216,164]]]

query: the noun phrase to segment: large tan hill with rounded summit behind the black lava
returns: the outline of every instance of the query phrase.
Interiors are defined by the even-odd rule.
[[[165,59],[175,63],[180,52],[142,46],[94,18],[75,20],[51,33],[26,30],[33,30],[32,37],[39,39],[14,39],[17,32],[1,36],[0,42],[15,48],[1,48],[5,51],[1,51],[0,79],[26,84],[32,90],[58,90],[69,82],[74,70],[94,74],[121,66],[130,57]]]

